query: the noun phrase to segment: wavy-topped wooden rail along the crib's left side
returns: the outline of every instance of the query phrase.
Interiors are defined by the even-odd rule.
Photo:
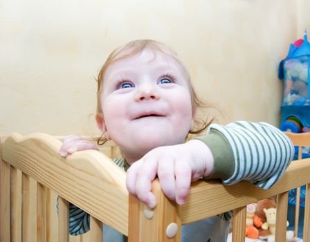
[[[1,162],[1,187],[6,192],[5,195],[1,193],[1,204],[3,198],[10,198],[11,166],[22,172],[23,195],[28,194],[31,177],[39,185],[52,189],[61,198],[82,208],[94,218],[127,234],[128,192],[125,172],[98,151],[82,151],[67,159],[61,158],[57,154],[60,145],[60,140],[42,133],[25,137],[13,133],[6,138],[1,143],[2,160],[8,162]],[[39,187],[38,191],[42,189]],[[6,204],[3,210],[10,213],[10,203]],[[22,217],[25,219],[21,227],[24,230],[28,230],[29,226],[26,221],[30,216],[27,214],[28,206],[28,196],[23,196]],[[62,203],[60,214],[61,211]],[[64,230],[63,225],[60,230]]]

